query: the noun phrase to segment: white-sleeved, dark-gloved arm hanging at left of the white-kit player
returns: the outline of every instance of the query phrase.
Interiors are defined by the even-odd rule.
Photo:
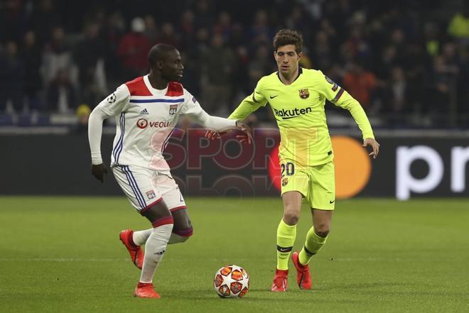
[[[104,182],[104,175],[107,174],[107,168],[102,163],[101,157],[102,121],[122,112],[129,102],[129,97],[129,89],[122,84],[109,97],[102,100],[90,114],[88,141],[91,151],[91,174],[101,182]]]

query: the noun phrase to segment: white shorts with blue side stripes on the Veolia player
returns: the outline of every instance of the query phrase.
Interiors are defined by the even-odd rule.
[[[178,184],[169,173],[134,165],[118,165],[112,172],[127,199],[140,213],[161,199],[171,211],[186,208]]]

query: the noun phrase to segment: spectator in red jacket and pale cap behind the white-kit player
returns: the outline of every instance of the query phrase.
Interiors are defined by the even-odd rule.
[[[119,43],[117,55],[122,64],[124,79],[145,75],[147,72],[146,56],[151,45],[144,31],[144,19],[136,17],[131,21],[131,32],[126,33]]]

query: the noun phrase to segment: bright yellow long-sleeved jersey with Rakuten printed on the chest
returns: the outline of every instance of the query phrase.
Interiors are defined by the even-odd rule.
[[[325,100],[347,109],[362,131],[363,138],[374,138],[362,106],[348,92],[320,70],[298,69],[289,85],[278,72],[264,76],[254,92],[246,97],[229,119],[245,119],[260,106],[270,104],[280,130],[279,158],[297,165],[314,166],[333,159],[332,144],[325,120]]]

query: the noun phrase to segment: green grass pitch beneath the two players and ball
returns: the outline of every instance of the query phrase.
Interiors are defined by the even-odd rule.
[[[132,292],[139,270],[118,239],[149,224],[124,197],[0,197],[0,312],[469,312],[469,200],[338,201],[313,258],[313,290],[269,292],[280,199],[188,198],[194,236],[168,246],[160,300]],[[298,224],[301,248],[311,214]],[[240,300],[212,289],[222,265],[243,266]]]

